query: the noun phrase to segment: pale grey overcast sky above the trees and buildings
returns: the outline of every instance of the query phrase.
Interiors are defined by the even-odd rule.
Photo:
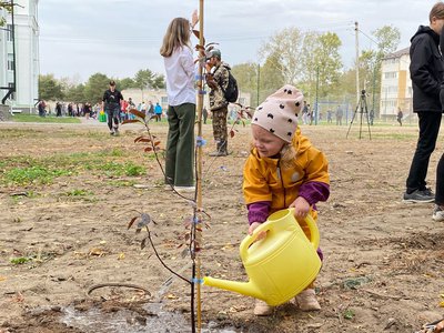
[[[372,38],[383,26],[401,30],[400,49],[408,47],[420,24],[428,24],[435,0],[206,0],[204,36],[219,42],[230,64],[258,62],[258,49],[287,27],[331,31],[343,46],[343,63],[355,58],[354,22]],[[159,54],[163,34],[175,17],[190,18],[199,0],[43,0],[39,1],[40,71],[85,81],[97,72],[132,78],[140,69],[164,73]],[[193,44],[196,39],[193,38]],[[360,33],[360,49],[374,48]]]

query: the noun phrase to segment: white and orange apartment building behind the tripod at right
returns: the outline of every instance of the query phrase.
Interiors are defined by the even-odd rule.
[[[381,102],[382,119],[394,119],[397,108],[404,117],[413,114],[413,91],[410,79],[410,48],[386,56],[381,64]]]

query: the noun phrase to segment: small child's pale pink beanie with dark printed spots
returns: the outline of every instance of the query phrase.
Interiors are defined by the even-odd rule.
[[[251,123],[291,142],[303,100],[304,95],[297,88],[285,84],[256,108]]]

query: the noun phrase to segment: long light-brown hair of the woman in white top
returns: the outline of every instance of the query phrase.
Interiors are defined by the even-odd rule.
[[[171,57],[175,49],[190,47],[190,21],[184,18],[175,18],[168,26],[167,33],[163,37],[163,43],[160,48],[160,54]]]

